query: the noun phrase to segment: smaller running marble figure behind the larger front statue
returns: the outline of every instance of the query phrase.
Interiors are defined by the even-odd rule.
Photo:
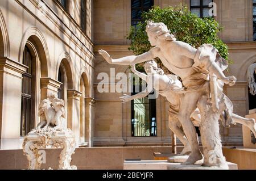
[[[165,75],[163,73],[163,70],[158,68],[155,61],[147,61],[144,64],[144,70],[146,71],[147,74],[137,71],[135,69],[135,65],[131,67],[131,70],[133,71],[134,74],[138,75],[138,77],[146,81],[148,86],[145,90],[139,92],[138,94],[132,96],[124,94],[120,97],[122,102],[128,102],[133,99],[143,98],[147,96],[153,89],[155,91],[158,91],[160,95],[166,97],[166,99],[170,103],[168,121],[169,128],[171,129],[172,132],[174,132],[174,134],[176,134],[177,138],[179,138],[181,143],[184,145],[184,149],[181,151],[180,155],[190,154],[191,146],[189,145],[187,137],[185,136],[180,121],[177,117],[180,109],[180,103],[182,102],[181,99],[184,98],[185,94],[185,91],[182,87],[182,83],[179,81],[179,79],[177,79],[177,75]],[[154,81],[152,79],[154,79]],[[158,85],[152,84],[151,82],[157,82]],[[231,101],[228,101],[227,103],[230,102]],[[226,107],[228,107],[228,109],[232,109],[233,105],[231,104]],[[201,116],[198,108],[194,112],[192,112],[190,117],[191,121],[195,125],[200,125]],[[250,130],[256,136],[256,124],[254,119],[246,119],[245,117],[238,116],[234,113],[232,113],[232,119],[234,120],[233,124],[239,123],[245,125],[246,127],[250,128]],[[228,127],[228,125],[226,125],[224,115],[223,117],[220,117],[220,120],[222,121],[224,127]],[[195,123],[196,121],[197,123]]]

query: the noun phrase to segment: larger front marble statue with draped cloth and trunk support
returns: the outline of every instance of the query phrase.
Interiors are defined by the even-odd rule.
[[[203,133],[205,147],[207,149],[211,148],[216,152],[214,154],[220,155],[217,158],[217,163],[205,160],[204,165],[227,168],[228,165],[225,163],[221,151],[220,138],[211,141],[209,137],[214,136],[216,132],[219,133],[217,121],[226,105],[223,95],[218,91],[217,79],[229,86],[236,83],[236,77],[226,77],[222,72],[228,67],[228,61],[222,58],[218,50],[210,44],[204,44],[196,49],[187,43],[176,41],[174,35],[170,34],[167,26],[163,23],[147,22],[146,32],[148,40],[153,46],[146,53],[113,59],[105,50],[99,50],[98,52],[110,64],[120,65],[134,65],[159,57],[168,70],[181,78],[186,91],[181,100],[177,117],[192,150],[191,155],[183,165],[191,165],[203,158],[196,138],[196,129],[190,118],[191,113],[196,110],[196,107],[199,107],[202,115],[207,113],[201,116],[202,124],[214,124],[211,132],[207,133],[205,131],[205,134]],[[211,99],[210,104],[208,98]],[[200,106],[197,106],[197,104],[200,104]],[[208,123],[209,119],[212,121]],[[217,149],[215,149],[216,145]],[[209,154],[213,153],[212,150],[207,149],[204,150],[205,159],[210,157],[210,155],[207,155],[208,152]]]

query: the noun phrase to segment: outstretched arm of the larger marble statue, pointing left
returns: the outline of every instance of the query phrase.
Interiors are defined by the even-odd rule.
[[[119,64],[119,65],[134,65],[138,64],[147,60],[151,60],[155,58],[155,52],[156,48],[152,48],[146,53],[140,54],[138,56],[126,56],[122,58],[113,59],[108,52],[105,50],[98,50],[98,53],[101,54],[101,56],[109,62],[109,64]]]

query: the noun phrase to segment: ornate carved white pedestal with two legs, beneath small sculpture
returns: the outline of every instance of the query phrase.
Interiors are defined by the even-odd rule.
[[[76,170],[76,166],[70,166],[71,155],[75,153],[76,142],[71,129],[42,128],[34,129],[24,138],[23,152],[27,155],[28,169],[40,169],[42,156],[38,149],[63,148],[59,158],[60,170]]]

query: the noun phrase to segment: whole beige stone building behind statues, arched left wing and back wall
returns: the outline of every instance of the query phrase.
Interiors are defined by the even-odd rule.
[[[225,92],[234,104],[234,112],[245,116],[249,111],[246,71],[256,62],[255,1],[213,2],[217,7],[214,18],[224,27],[219,36],[228,44],[233,60],[226,74],[238,79],[235,86],[225,87]],[[130,72],[128,66],[108,64],[97,50],[104,49],[114,58],[133,54],[127,50],[130,41],[126,39],[133,18],[131,3],[130,0],[0,1],[1,149],[20,145],[24,134],[39,123],[37,107],[50,93],[65,100],[68,128],[80,145],[171,144],[165,98],[159,96],[155,100],[156,134],[134,136],[131,102],[122,103],[119,99],[122,93],[102,93],[97,89],[100,73],[110,75],[110,68],[115,68],[110,78],[117,83],[117,73]],[[191,6],[190,0],[151,3],[160,7],[180,3]],[[139,132],[145,132],[142,123]],[[221,134],[224,145],[242,145],[240,125],[222,128]]]

